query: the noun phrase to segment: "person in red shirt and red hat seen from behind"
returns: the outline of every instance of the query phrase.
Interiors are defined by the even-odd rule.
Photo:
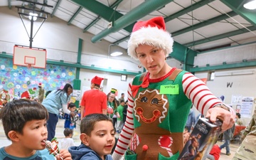
[[[92,113],[107,114],[107,95],[100,90],[103,79],[97,76],[92,78],[91,90],[85,91],[82,95],[81,118]]]

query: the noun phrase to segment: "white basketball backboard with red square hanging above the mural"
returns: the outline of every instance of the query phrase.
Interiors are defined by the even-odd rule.
[[[46,68],[46,49],[15,45],[14,65]]]

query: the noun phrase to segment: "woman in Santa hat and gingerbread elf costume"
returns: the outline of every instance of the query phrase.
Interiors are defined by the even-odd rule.
[[[218,100],[205,83],[166,63],[173,43],[163,17],[135,23],[128,53],[147,72],[129,83],[127,120],[112,154],[114,160],[121,159],[128,146],[125,159],[178,159],[191,102],[211,122],[217,116],[223,119],[223,130],[235,123],[234,110]]]

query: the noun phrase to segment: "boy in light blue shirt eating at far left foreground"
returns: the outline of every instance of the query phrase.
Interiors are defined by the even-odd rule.
[[[70,153],[61,149],[55,157],[46,149],[48,111],[33,100],[14,100],[0,112],[7,139],[11,145],[0,149],[0,159],[71,159]]]

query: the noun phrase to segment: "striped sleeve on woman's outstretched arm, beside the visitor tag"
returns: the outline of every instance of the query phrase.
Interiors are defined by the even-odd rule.
[[[211,107],[223,103],[210,92],[209,88],[202,80],[196,78],[191,73],[185,73],[183,75],[182,86],[186,97],[188,97],[196,109],[204,115],[206,115]]]

